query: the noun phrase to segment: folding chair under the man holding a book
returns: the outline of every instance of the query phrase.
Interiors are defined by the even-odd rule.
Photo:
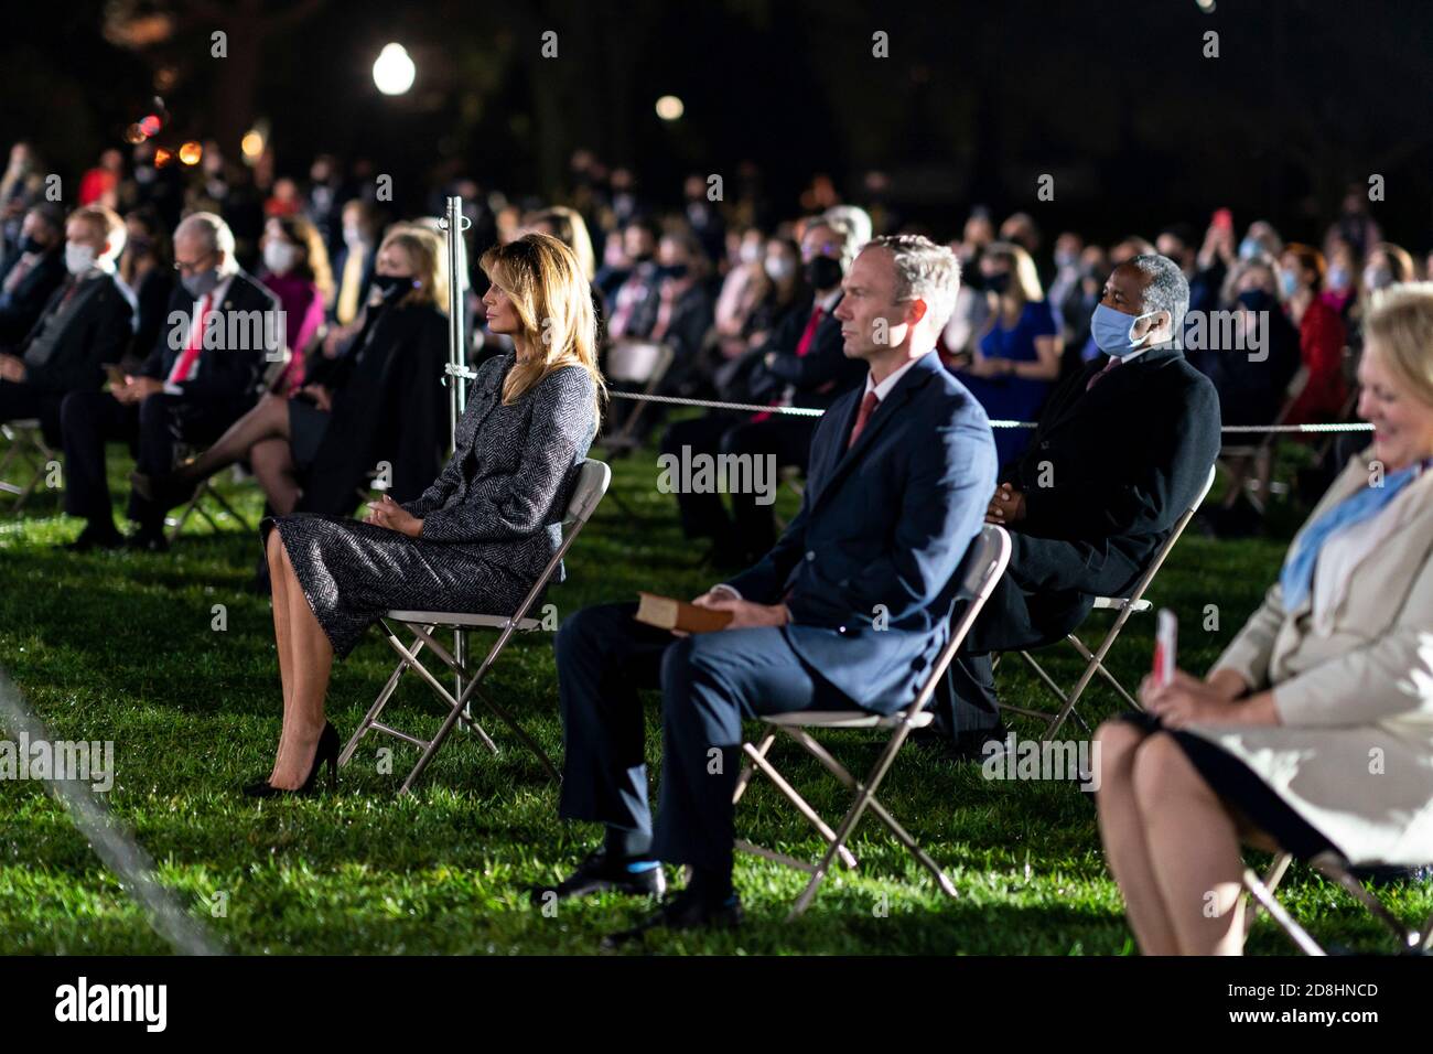
[[[787,856],[785,853],[778,853],[772,849],[765,849],[762,846],[752,845],[751,842],[737,839],[737,849],[755,853],[757,856],[764,856],[768,860],[775,860],[777,863],[782,863],[788,868],[804,870],[811,875],[805,889],[791,908],[791,915],[788,918],[801,915],[810,906],[811,901],[815,898],[817,889],[825,879],[825,875],[831,869],[831,863],[837,856],[840,856],[841,862],[848,868],[856,868],[857,860],[854,853],[851,853],[847,848],[847,842],[867,809],[870,809],[870,812],[873,812],[881,823],[890,827],[891,833],[900,840],[900,843],[906,846],[927,870],[930,870],[937,885],[946,895],[956,896],[956,888],[940,869],[940,865],[930,859],[926,850],[916,843],[914,837],[911,837],[910,832],[907,832],[896,820],[896,817],[887,812],[886,806],[877,800],[876,792],[880,789],[881,780],[886,779],[886,773],[890,770],[891,763],[896,760],[896,754],[906,743],[906,737],[910,736],[911,730],[923,728],[930,724],[933,714],[927,711],[926,707],[930,703],[931,694],[936,691],[936,684],[939,684],[940,678],[944,677],[946,667],[950,665],[950,660],[954,657],[956,650],[960,647],[966,634],[970,631],[970,627],[974,624],[976,617],[980,614],[980,608],[984,607],[984,602],[995,591],[995,584],[999,581],[1000,575],[1005,574],[1005,565],[1009,559],[1010,536],[1005,532],[1005,528],[993,525],[983,526],[980,533],[974,538],[974,541],[972,541],[970,549],[966,552],[960,571],[957,572],[960,588],[956,592],[956,609],[953,612],[950,640],[946,642],[946,647],[937,657],[936,664],[926,675],[920,694],[917,694],[916,700],[904,710],[897,710],[894,714],[876,714],[853,710],[808,710],[790,714],[768,714],[761,718],[761,721],[768,726],[768,730],[759,746],[752,746],[751,743],[742,744],[742,753],[747,756],[747,763],[742,766],[741,776],[737,780],[737,792],[732,802],[741,802],[752,776],[757,771],[761,771],[827,842],[825,855],[818,863],[813,865],[807,860],[798,860],[794,856]],[[876,759],[876,764],[866,776],[866,780],[858,782],[821,743],[811,737],[808,728],[881,728],[890,731],[891,736],[881,749],[880,756]],[[771,763],[768,754],[777,739],[777,733],[785,733],[792,740],[800,743],[801,747],[820,761],[837,780],[840,780],[843,786],[856,792],[856,797],[851,802],[850,809],[847,809],[845,816],[837,825],[835,830],[831,830],[831,827],[827,826],[825,820],[821,819],[821,815],[804,797],[801,797],[797,789],[792,787],[791,783]]]

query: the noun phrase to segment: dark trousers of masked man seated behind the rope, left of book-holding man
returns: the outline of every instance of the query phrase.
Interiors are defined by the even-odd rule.
[[[682,447],[708,456],[772,455],[777,469],[805,470],[811,455],[815,417],[772,414],[765,420],[708,414],[672,424],[662,437],[662,453],[681,456]],[[774,480],[772,480],[774,482]],[[758,505],[755,493],[732,493],[731,515],[719,493],[676,495],[682,531],[688,538],[729,541],[739,555],[755,561],[777,541],[777,521],[771,505]]]

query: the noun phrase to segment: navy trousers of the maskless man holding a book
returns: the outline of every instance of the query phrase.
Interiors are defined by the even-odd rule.
[[[560,815],[652,835],[656,859],[729,873],[742,720],[858,707],[807,667],[780,628],[675,638],[635,612],[635,604],[586,608],[557,632]],[[662,690],[655,827],[639,688]]]

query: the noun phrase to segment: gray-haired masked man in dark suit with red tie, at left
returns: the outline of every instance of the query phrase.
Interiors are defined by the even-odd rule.
[[[254,406],[265,363],[284,347],[278,298],[239,270],[234,234],[212,212],[195,212],[175,228],[179,285],[169,300],[159,343],[122,387],[72,391],[60,407],[64,433],[64,511],[87,526],[72,548],[118,545],[105,442],[138,442],[135,467],[148,476],[173,467],[175,442],[212,443]],[[138,493],[129,518],[139,529],[135,548],[160,551],[165,511]]]

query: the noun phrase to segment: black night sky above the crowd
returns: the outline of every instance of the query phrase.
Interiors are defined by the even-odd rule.
[[[257,39],[251,86],[222,66],[242,56],[211,57],[215,27],[232,46],[285,13],[291,24]],[[165,29],[146,47],[116,43],[113,26],[136,20]],[[539,53],[549,29],[557,59]],[[871,54],[877,30],[890,57]],[[1201,54],[1208,30],[1218,59]],[[418,69],[398,99],[370,73],[388,40]],[[279,175],[307,174],[317,151],[364,156],[411,208],[443,162],[552,196],[589,146],[633,166],[658,204],[679,199],[686,172],[731,179],[751,159],[781,215],[800,212],[814,172],[864,202],[878,169],[894,211],[943,235],[984,202],[1095,238],[1172,219],[1202,229],[1228,205],[1240,227],[1265,217],[1314,239],[1350,182],[1381,174],[1376,218],[1423,251],[1430,56],[1426,0],[1217,0],[1208,14],[1195,0],[66,0],[9,11],[0,139],[27,138],[77,175],[122,145],[168,70],[165,138],[229,138],[267,118]],[[658,119],[665,93],[685,102],[679,122]],[[1053,202],[1036,201],[1042,174]]]

